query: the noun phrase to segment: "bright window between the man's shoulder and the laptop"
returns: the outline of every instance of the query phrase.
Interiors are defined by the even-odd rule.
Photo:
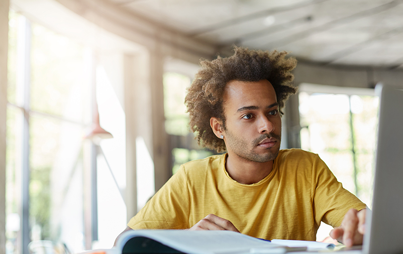
[[[302,84],[299,101],[302,149],[317,153],[343,187],[371,208],[379,103],[374,91]]]

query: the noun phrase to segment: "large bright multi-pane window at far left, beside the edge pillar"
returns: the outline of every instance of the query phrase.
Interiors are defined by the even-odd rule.
[[[10,10],[7,253],[26,253],[29,242],[40,240],[85,249],[83,135],[91,122],[85,51]]]

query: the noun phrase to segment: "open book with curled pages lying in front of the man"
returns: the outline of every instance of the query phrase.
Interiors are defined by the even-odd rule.
[[[287,251],[287,247],[232,231],[135,230],[121,235],[107,253],[282,254]]]

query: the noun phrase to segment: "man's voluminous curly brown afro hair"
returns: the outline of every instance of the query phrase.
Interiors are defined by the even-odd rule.
[[[227,82],[257,82],[267,79],[276,91],[280,112],[288,97],[297,92],[297,88],[292,85],[294,75],[291,73],[297,60],[293,57],[286,58],[286,51],[249,50],[236,46],[233,51],[235,53],[230,57],[218,56],[212,61],[201,60],[201,69],[188,88],[185,98],[187,112],[190,114],[189,125],[193,132],[198,132],[196,138],[199,145],[217,152],[225,151],[226,147],[224,140],[216,137],[212,131],[210,118],[219,119],[225,129],[222,97]]]

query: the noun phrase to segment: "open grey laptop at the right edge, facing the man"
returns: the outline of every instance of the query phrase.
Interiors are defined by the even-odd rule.
[[[374,193],[363,246],[334,252],[403,254],[403,89],[378,84],[375,94],[380,103]]]

